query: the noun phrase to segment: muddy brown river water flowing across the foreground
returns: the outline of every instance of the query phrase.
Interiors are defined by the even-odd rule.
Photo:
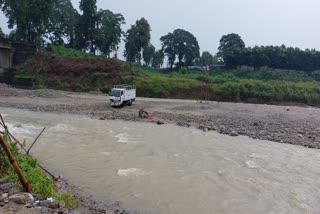
[[[320,213],[320,151],[174,125],[0,108],[32,154],[138,213]],[[20,125],[18,125],[20,124]]]

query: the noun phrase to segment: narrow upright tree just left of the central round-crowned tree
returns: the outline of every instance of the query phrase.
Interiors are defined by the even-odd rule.
[[[124,55],[127,61],[138,62],[141,64],[143,49],[149,44],[151,39],[151,28],[145,18],[137,20],[134,25],[128,29],[125,38]]]

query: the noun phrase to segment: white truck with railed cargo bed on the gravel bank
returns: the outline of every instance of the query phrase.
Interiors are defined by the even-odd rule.
[[[133,85],[115,85],[110,92],[111,106],[129,105],[136,99],[136,88]]]

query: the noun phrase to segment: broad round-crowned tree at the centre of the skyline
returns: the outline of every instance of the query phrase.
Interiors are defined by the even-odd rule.
[[[160,38],[162,49],[168,57],[168,63],[172,68],[176,58],[177,67],[193,65],[195,59],[200,57],[200,47],[194,35],[190,32],[177,29]]]

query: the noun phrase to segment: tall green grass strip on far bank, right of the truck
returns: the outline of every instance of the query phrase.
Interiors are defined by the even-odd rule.
[[[258,71],[204,72],[180,69],[167,72],[137,65],[133,69],[145,75],[132,83],[146,96],[199,98],[201,87],[208,82],[209,96],[215,100],[320,105],[320,82],[313,78],[313,74],[308,75],[303,71],[263,68]]]

